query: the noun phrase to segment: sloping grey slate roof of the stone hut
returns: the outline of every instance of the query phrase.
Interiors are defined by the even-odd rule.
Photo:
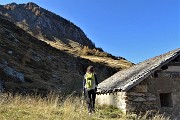
[[[98,94],[112,93],[117,91],[128,91],[155,72],[157,68],[170,62],[180,55],[180,48],[154,58],[140,62],[128,69],[119,71],[98,85]]]

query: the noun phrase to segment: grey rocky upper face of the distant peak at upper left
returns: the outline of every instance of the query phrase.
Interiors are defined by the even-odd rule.
[[[60,41],[68,45],[73,41],[82,46],[95,48],[79,27],[35,3],[0,5],[0,14],[38,39]]]

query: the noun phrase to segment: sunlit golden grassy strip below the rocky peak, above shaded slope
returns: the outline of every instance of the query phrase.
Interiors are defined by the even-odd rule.
[[[89,59],[92,62],[103,63],[113,68],[126,69],[133,65],[133,63],[131,63],[130,61],[127,61],[125,59],[115,59],[111,54],[99,51],[98,49],[90,49],[88,46],[82,47],[82,45],[76,42],[70,41],[70,45],[61,43],[59,42],[59,40],[56,40],[56,42],[44,42],[59,50],[63,50],[70,54],[80,56],[81,58]]]

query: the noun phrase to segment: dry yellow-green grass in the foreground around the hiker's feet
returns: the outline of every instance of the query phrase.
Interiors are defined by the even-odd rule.
[[[124,115],[113,107],[96,107],[96,113],[88,115],[86,105],[79,97],[63,97],[50,94],[39,96],[0,96],[0,120],[146,120],[147,115]],[[152,120],[167,120],[157,114]]]

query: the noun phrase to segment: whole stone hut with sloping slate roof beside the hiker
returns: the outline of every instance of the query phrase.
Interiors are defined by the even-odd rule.
[[[97,103],[123,112],[180,115],[180,48],[117,72],[98,85]]]

